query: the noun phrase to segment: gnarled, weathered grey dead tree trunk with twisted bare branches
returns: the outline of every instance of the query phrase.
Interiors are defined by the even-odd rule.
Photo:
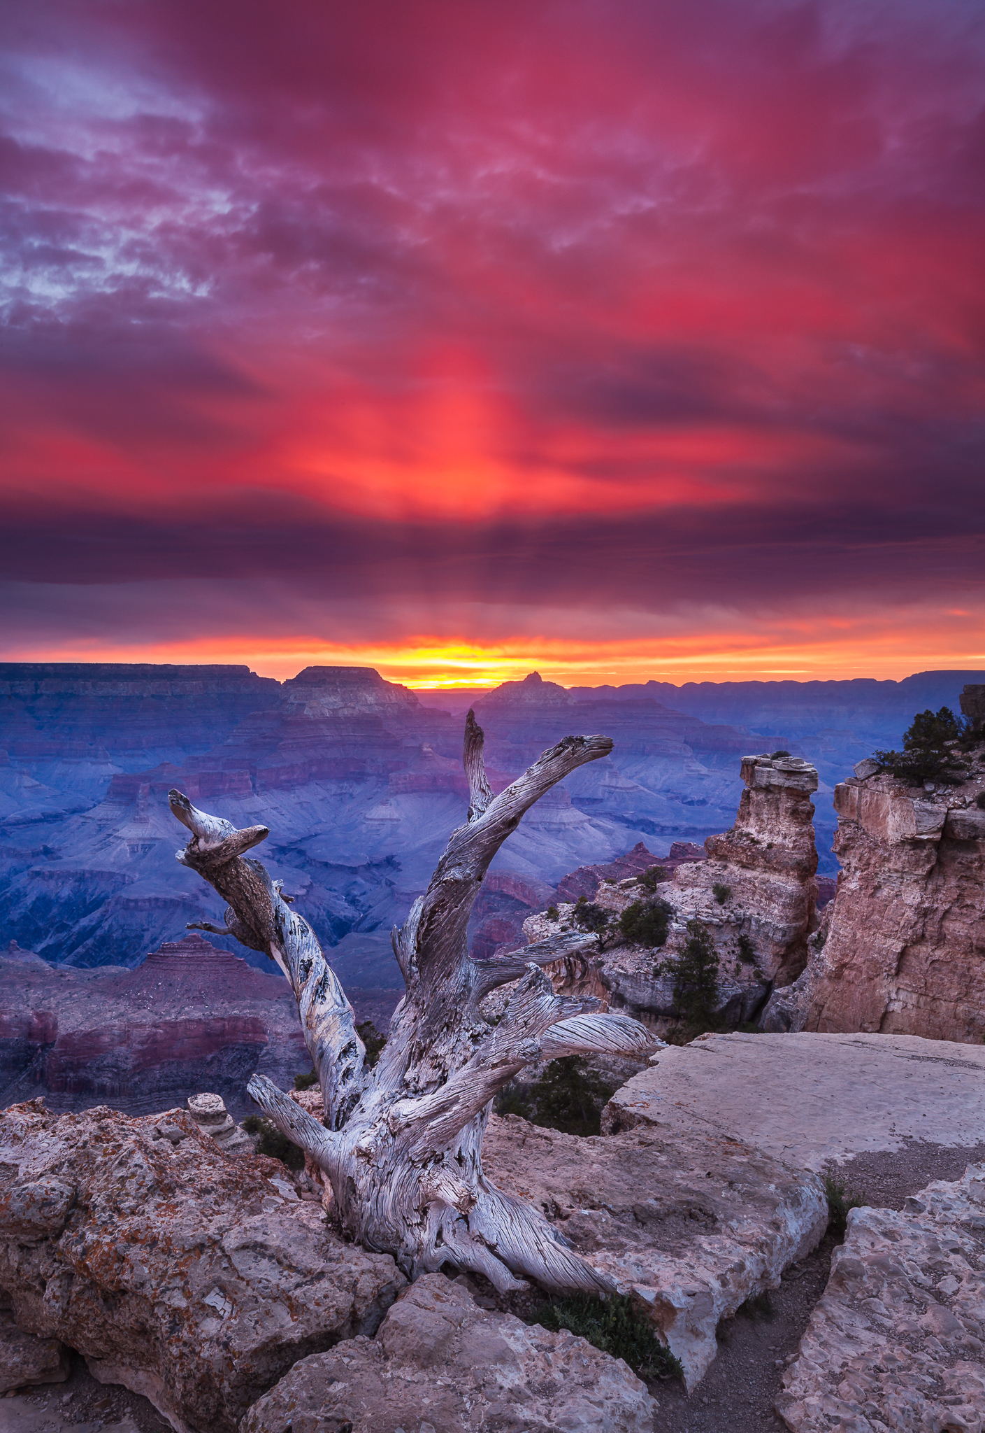
[[[238,831],[170,792],[173,814],[192,833],[178,860],[225,897],[226,933],[276,960],[291,980],[325,1122],[261,1075],[251,1079],[249,1093],[325,1171],[344,1228],[367,1248],[391,1252],[411,1278],[448,1262],[484,1274],[500,1291],[523,1287],[524,1275],[551,1290],[613,1287],[535,1209],[490,1184],[482,1134],[492,1096],[531,1062],[603,1050],[639,1055],[653,1039],[627,1016],[587,1013],[597,1009],[596,1000],[554,995],[540,967],[586,949],[596,936],[571,933],[490,962],[471,960],[465,941],[482,877],[524,811],[611,745],[607,737],[566,737],[494,797],[482,731],[468,714],[468,820],[452,833],[427,893],[392,933],[407,993],[372,1070],[364,1065],[352,1006],[311,926],[291,910],[262,864],[245,856],[268,828]],[[500,1023],[490,1026],[480,1002],[517,979]]]

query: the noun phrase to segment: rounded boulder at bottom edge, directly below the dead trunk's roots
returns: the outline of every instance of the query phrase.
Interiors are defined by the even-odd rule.
[[[480,1308],[467,1280],[425,1274],[377,1338],[302,1358],[241,1433],[651,1433],[656,1401],[621,1358]]]

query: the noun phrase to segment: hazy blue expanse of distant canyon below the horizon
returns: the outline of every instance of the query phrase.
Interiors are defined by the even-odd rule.
[[[531,674],[474,695],[494,790],[570,731],[616,739],[497,857],[474,911],[477,953],[514,939],[580,866],[726,830],[754,734],[817,770],[819,873],[832,878],[835,784],[896,744],[916,705],[956,705],[975,676],[564,689]],[[0,663],[0,934],[49,963],[135,966],[186,924],[218,924],[173,861],[166,791],[179,785],[233,823],[263,820],[272,874],[304,900],[342,979],[388,987],[388,930],[461,820],[460,705],[369,668],[276,682],[245,666]]]

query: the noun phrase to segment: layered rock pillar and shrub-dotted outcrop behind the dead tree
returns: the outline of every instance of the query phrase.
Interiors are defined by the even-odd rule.
[[[680,861],[670,880],[653,888],[641,887],[637,877],[603,878],[596,888],[594,904],[611,921],[634,901],[664,901],[670,911],[666,943],[657,950],[627,943],[613,924],[603,952],[551,967],[555,989],[594,995],[667,1033],[680,1019],[673,960],[690,939],[693,919],[714,940],[720,1020],[754,1019],[776,987],[800,974],[819,923],[810,800],[817,772],[799,758],[762,755],[743,758],[742,778],[734,825],[707,837],[706,860]],[[560,901],[555,909],[557,917],[543,913],[524,921],[527,940],[578,924],[574,903]]]

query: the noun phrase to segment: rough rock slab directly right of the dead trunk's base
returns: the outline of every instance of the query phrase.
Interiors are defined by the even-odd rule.
[[[719,1320],[776,1288],[828,1227],[816,1175],[676,1112],[588,1139],[492,1116],[482,1164],[644,1300],[689,1387],[714,1358]]]

